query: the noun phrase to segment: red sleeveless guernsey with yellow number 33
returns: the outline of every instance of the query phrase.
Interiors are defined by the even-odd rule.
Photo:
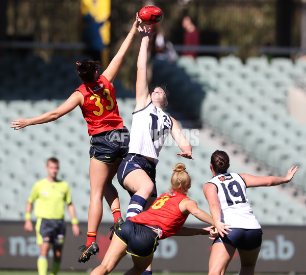
[[[84,83],[75,91],[84,96],[84,104],[80,107],[89,135],[123,128],[115,88],[105,76],[100,75],[97,81]]]

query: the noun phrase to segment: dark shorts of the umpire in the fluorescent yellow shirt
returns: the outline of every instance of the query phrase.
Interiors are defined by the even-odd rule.
[[[36,221],[36,242],[63,245],[65,241],[66,226],[63,219],[38,218]]]

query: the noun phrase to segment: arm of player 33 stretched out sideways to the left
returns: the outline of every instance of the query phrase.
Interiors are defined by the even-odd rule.
[[[29,125],[42,124],[57,120],[58,118],[71,112],[78,105],[81,105],[83,100],[83,95],[80,92],[74,92],[61,106],[56,108],[54,111],[44,113],[35,118],[15,119],[14,122],[10,123],[13,125],[11,128],[14,130],[19,130]]]

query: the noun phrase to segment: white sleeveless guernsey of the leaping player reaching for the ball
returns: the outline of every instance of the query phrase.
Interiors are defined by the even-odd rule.
[[[150,102],[133,113],[129,153],[154,158],[158,163],[159,152],[172,128],[172,120],[159,107]]]

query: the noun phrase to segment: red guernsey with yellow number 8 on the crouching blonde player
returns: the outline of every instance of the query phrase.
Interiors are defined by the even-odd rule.
[[[173,191],[165,193],[157,198],[148,210],[129,218],[129,221],[141,225],[157,225],[162,229],[160,239],[168,238],[176,234],[186,222],[188,214],[181,212],[179,204],[187,198]]]

